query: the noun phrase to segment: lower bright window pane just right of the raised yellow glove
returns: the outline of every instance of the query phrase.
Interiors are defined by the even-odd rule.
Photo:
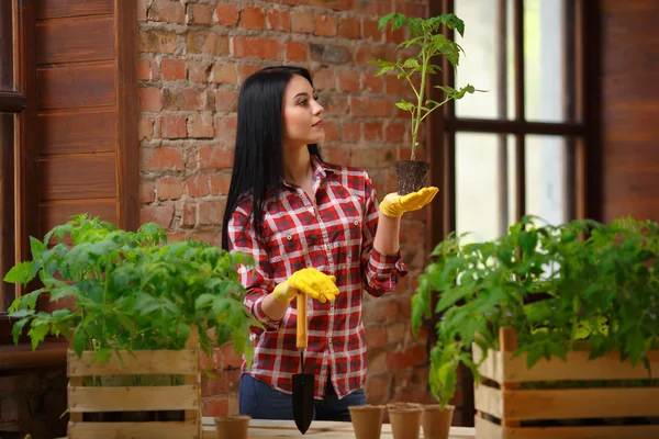
[[[494,239],[515,221],[513,136],[456,134],[456,229]]]

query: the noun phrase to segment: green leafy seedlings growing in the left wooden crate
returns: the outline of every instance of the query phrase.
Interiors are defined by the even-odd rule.
[[[33,349],[47,335],[68,339],[71,333],[78,356],[94,350],[94,360],[107,361],[119,350],[183,349],[197,327],[206,354],[232,340],[236,353],[252,360],[249,325],[256,322],[243,305],[245,290],[235,269],[250,263],[246,256],[196,240],[168,244],[154,223],[125,232],[87,215],[30,244],[32,260],[4,277],[24,285],[37,278],[43,285],[12,303],[14,342],[25,325]],[[72,306],[36,311],[44,293]]]

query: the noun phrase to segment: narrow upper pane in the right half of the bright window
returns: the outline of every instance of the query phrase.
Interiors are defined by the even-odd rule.
[[[562,0],[524,1],[525,117],[565,122]]]

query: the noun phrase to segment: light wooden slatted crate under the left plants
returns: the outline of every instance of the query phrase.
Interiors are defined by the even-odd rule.
[[[199,335],[194,328],[186,349],[113,353],[107,363],[92,362],[92,351],[81,358],[67,353],[68,439],[201,439],[201,374]],[[123,361],[123,363],[122,363]],[[130,375],[182,375],[182,385],[85,386],[86,376],[110,380]],[[105,381],[110,381],[105,380]],[[86,413],[185,410],[182,421],[83,421]]]

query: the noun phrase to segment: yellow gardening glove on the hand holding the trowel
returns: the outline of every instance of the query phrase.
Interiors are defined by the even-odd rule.
[[[290,303],[298,292],[309,294],[322,303],[332,302],[338,295],[335,281],[336,277],[334,275],[327,275],[315,268],[303,268],[275,286],[272,294],[275,294],[275,299],[284,304]]]

